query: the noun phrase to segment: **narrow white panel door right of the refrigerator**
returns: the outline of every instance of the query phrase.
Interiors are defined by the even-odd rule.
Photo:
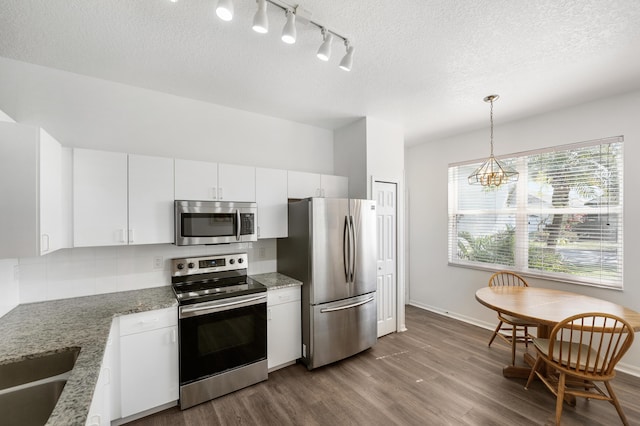
[[[377,210],[378,337],[396,331],[396,185],[374,182]]]

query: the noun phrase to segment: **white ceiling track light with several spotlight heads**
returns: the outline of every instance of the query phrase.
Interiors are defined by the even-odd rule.
[[[177,1],[177,0],[171,0]],[[316,55],[322,61],[328,61],[331,57],[331,44],[334,37],[342,39],[346,47],[347,53],[340,61],[340,68],[345,71],[351,71],[353,66],[354,47],[346,37],[335,31],[327,29],[326,26],[311,20],[311,13],[302,9],[300,6],[292,6],[282,0],[256,0],[258,8],[253,17],[252,29],[260,34],[269,32],[269,20],[267,17],[267,4],[275,6],[285,12],[287,21],[282,29],[282,41],[287,44],[294,44],[297,38],[296,21],[301,25],[311,24],[318,28],[322,34],[322,44],[318,48]],[[233,0],[218,0],[216,6],[216,14],[223,21],[231,21],[233,19]]]

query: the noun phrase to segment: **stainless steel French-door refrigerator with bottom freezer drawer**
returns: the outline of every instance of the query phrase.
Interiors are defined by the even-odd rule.
[[[310,370],[376,342],[375,209],[370,200],[289,203],[289,237],[278,240],[278,272],[303,283],[302,361]]]

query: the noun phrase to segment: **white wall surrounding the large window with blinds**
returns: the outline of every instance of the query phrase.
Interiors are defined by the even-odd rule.
[[[496,117],[496,155],[607,136],[624,135],[625,139],[624,291],[535,279],[532,285],[582,293],[640,311],[640,222],[635,220],[640,217],[638,111],[640,92],[634,92],[508,124]],[[407,149],[409,286],[411,304],[495,327],[495,313],[474,299],[476,290],[487,285],[490,273],[447,265],[448,164],[482,159],[488,150],[488,128]],[[621,365],[640,375],[640,344],[631,348]]]

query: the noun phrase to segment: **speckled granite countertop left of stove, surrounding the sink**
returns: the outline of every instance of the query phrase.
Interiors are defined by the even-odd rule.
[[[162,286],[19,305],[0,318],[0,364],[79,347],[47,425],[84,425],[113,318],[177,304]]]

